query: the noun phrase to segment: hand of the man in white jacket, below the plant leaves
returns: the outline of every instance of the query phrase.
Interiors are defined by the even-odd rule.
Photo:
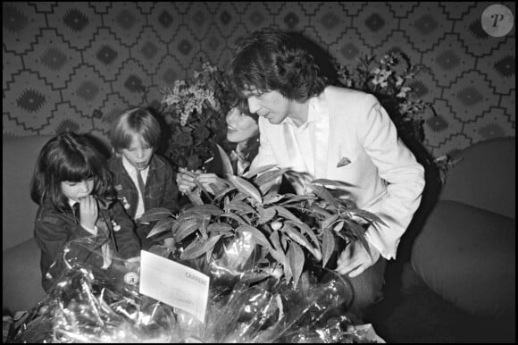
[[[380,252],[371,242],[367,241],[369,248],[371,249],[371,255],[367,252],[367,249],[363,247],[360,240],[355,240],[347,244],[346,248],[338,257],[337,271],[340,274],[348,274],[350,278],[354,278],[362,274],[367,268],[376,264],[380,259]]]

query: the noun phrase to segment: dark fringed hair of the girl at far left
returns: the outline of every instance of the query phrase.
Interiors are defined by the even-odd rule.
[[[92,195],[115,198],[112,175],[106,159],[86,135],[65,132],[50,139],[41,149],[30,181],[30,198],[38,205],[48,199],[57,212],[70,208],[61,182],[94,179]]]

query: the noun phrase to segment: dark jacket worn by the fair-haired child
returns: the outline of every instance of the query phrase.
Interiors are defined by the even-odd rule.
[[[135,219],[138,206],[138,189],[122,165],[121,156],[113,156],[108,161],[108,169],[113,174],[113,185],[117,189],[117,198],[121,200],[126,213]],[[144,192],[145,211],[165,207],[176,213],[179,209],[178,187],[174,182],[171,164],[163,157],[153,155],[147,173]]]

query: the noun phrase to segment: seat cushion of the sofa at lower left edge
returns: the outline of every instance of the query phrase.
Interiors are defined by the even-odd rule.
[[[29,310],[45,297],[41,287],[40,253],[34,239],[2,253],[2,305],[11,314]]]

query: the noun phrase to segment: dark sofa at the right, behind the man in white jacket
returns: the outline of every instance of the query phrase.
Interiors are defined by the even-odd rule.
[[[458,152],[414,239],[411,264],[431,290],[472,316],[515,321],[515,138]]]

